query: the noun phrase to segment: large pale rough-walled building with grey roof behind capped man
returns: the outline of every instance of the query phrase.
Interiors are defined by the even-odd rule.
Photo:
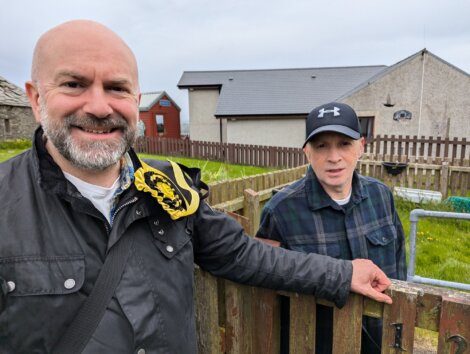
[[[186,71],[192,140],[299,147],[305,118],[340,101],[363,135],[470,136],[470,76],[423,49],[390,66]]]

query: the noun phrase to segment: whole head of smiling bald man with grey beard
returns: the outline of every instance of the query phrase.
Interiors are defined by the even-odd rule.
[[[76,167],[105,169],[132,145],[137,67],[109,30],[80,24],[52,30],[36,49],[33,80],[36,120],[48,143]]]

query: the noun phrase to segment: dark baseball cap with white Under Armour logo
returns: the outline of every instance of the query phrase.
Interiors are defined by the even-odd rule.
[[[350,106],[331,102],[314,108],[307,116],[307,138],[302,147],[323,132],[340,133],[357,140],[361,137],[361,124]]]

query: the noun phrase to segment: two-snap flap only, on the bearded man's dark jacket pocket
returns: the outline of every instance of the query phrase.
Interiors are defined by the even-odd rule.
[[[76,256],[0,258],[0,277],[8,296],[64,295],[78,291],[85,279],[85,259]]]

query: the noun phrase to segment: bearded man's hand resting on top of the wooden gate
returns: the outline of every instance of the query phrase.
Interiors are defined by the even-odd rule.
[[[392,303],[390,296],[382,293],[390,286],[390,279],[379,267],[368,259],[355,259],[352,265],[351,291],[379,302]]]

